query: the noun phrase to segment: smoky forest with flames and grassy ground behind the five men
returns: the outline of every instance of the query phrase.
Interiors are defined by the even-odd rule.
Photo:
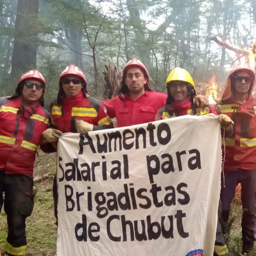
[[[154,90],[165,91],[167,75],[180,66],[192,74],[197,92],[214,103],[230,69],[255,53],[255,34],[256,0],[0,0],[0,97],[12,95],[22,73],[38,69],[46,79],[48,107],[57,96],[59,74],[75,64],[86,74],[91,96],[111,98],[118,88],[106,74],[112,68],[118,81],[118,70],[137,57]],[[56,254],[54,173],[55,155],[39,152],[34,175],[46,179],[35,183],[27,256]],[[226,235],[233,256],[241,252],[240,218],[236,198]],[[2,254],[6,235],[2,211]]]

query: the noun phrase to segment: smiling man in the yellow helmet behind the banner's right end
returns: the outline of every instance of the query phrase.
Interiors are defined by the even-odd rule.
[[[194,88],[193,78],[187,70],[179,67],[173,69],[166,79],[166,87],[166,105],[158,111],[155,118],[156,120],[173,118],[177,116],[185,116],[187,114],[217,114],[212,106],[207,106],[204,108],[196,107],[196,104],[194,103],[194,96],[196,95],[196,90]],[[220,114],[219,122],[221,126],[225,127],[226,129],[229,129],[230,124],[232,123],[231,119],[224,114]],[[218,216],[220,214],[220,210],[221,204],[219,202]],[[214,245],[214,255],[230,255],[224,241],[219,218]]]

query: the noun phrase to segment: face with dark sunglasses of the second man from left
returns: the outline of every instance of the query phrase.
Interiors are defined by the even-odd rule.
[[[81,80],[77,76],[65,76],[62,79],[62,87],[66,98],[73,98],[82,90]]]

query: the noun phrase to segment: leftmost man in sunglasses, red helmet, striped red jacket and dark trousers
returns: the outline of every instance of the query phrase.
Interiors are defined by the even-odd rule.
[[[35,196],[33,164],[50,120],[43,108],[45,89],[41,73],[30,70],[18,80],[13,96],[0,98],[0,212],[4,203],[7,255],[25,255],[27,250],[25,221]]]

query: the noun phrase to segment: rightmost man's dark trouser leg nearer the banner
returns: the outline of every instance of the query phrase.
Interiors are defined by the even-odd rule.
[[[224,176],[225,176],[225,182],[223,182],[224,179],[223,179],[223,173],[222,173],[221,191],[220,191],[220,200],[222,203],[221,217],[223,222],[228,222],[230,204],[235,196],[236,186],[239,183],[238,182],[239,170],[224,171]]]

